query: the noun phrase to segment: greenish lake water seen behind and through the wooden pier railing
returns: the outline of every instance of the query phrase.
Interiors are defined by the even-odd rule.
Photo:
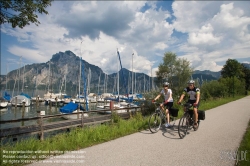
[[[103,105],[104,103],[89,103],[89,110],[96,110],[97,105]],[[84,108],[85,106],[81,104]],[[60,114],[59,109],[63,107],[61,106],[49,106],[45,105],[44,102],[39,103],[39,105],[36,105],[35,103],[32,104],[29,107],[15,107],[15,106],[8,106],[7,108],[0,109],[0,121],[3,120],[14,120],[14,119],[22,119],[22,118],[28,118],[28,117],[37,117],[37,111],[45,111],[46,115],[56,115]],[[89,116],[100,116],[101,114],[98,113],[89,113]],[[44,123],[51,123],[56,121],[63,121],[66,120],[63,117],[56,117],[56,118],[50,118],[50,119],[44,119]],[[6,129],[6,128],[13,128],[13,127],[22,127],[22,126],[30,126],[30,125],[37,125],[38,120],[29,120],[29,121],[21,121],[21,122],[15,122],[15,123],[6,123],[1,124],[0,129]],[[45,132],[44,137],[53,136],[58,133],[64,133],[67,132],[65,129],[56,130],[56,131],[50,131]],[[37,134],[24,134],[19,136],[12,136],[12,137],[6,137],[2,138],[1,144],[5,144],[7,142],[15,143],[19,140],[30,138],[30,137],[37,137]],[[38,138],[38,137],[37,137]]]

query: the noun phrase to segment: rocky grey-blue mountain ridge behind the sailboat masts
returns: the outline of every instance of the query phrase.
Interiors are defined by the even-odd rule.
[[[81,78],[81,92],[83,91],[83,75],[86,77],[86,84],[89,82],[90,86],[88,88],[89,93],[99,93],[105,92],[117,92],[115,86],[116,73],[107,75],[98,66],[89,64],[85,60],[82,63],[82,78]],[[84,70],[83,70],[84,68]],[[34,90],[36,85],[37,89],[44,90],[46,93],[48,90],[58,93],[63,92],[65,88],[65,82],[67,87],[67,94],[76,95],[78,93],[79,87],[79,74],[80,74],[80,58],[76,56],[71,51],[59,52],[52,56],[50,61],[46,63],[35,63],[31,65],[26,65],[20,69],[13,70],[7,74],[8,87],[7,89],[22,89],[23,87],[28,87],[29,90]],[[91,74],[89,74],[91,71]],[[122,73],[124,77],[122,77]],[[91,75],[91,78],[90,78]],[[128,84],[131,81],[131,71],[127,69],[122,69],[119,71],[120,93],[125,93],[126,88],[131,87]],[[66,76],[66,81],[65,81]],[[130,79],[129,79],[130,76]],[[137,80],[137,90],[142,91],[144,87],[144,76],[145,82],[149,82],[149,76],[143,73],[136,74]],[[100,77],[100,84],[99,84]],[[88,81],[90,78],[90,81]],[[106,80],[106,81],[105,81]],[[122,83],[126,82],[125,84]],[[99,84],[99,86],[98,86]],[[5,89],[6,76],[1,77],[1,89]],[[125,88],[126,87],[126,88]],[[130,88],[131,89],[131,88]]]

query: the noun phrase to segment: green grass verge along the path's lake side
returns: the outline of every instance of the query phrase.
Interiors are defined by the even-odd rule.
[[[223,98],[210,101],[202,101],[200,109],[208,110],[219,105],[240,99],[244,96],[235,96],[234,98]],[[152,110],[151,110],[152,111]],[[180,111],[179,117],[182,115]],[[90,126],[87,128],[75,128],[68,133],[58,134],[56,136],[46,138],[44,141],[39,141],[36,138],[30,138],[19,141],[14,145],[12,143],[4,144],[0,148],[1,165],[23,165],[23,161],[42,160],[50,155],[62,154],[64,151],[73,151],[107,142],[119,137],[123,137],[148,128],[148,116],[142,116],[141,113],[136,113],[129,120],[122,120],[116,114],[113,115],[112,121],[106,124]],[[250,137],[248,137],[249,139]],[[247,141],[249,145],[249,140]],[[244,147],[243,147],[244,148]],[[41,157],[37,151],[45,151]],[[49,151],[54,151],[53,153]],[[55,151],[60,151],[56,153]],[[12,152],[11,157],[9,153]],[[14,152],[14,153],[13,153]],[[28,153],[29,152],[29,153]],[[250,153],[250,152],[249,152]],[[20,156],[26,155],[25,160]],[[40,157],[40,158],[39,158]],[[3,161],[16,161],[14,163]]]

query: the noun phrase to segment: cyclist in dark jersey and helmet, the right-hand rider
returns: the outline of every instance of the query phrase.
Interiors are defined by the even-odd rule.
[[[193,105],[194,110],[194,130],[197,129],[197,121],[198,121],[198,107],[199,107],[199,101],[200,101],[200,89],[195,87],[194,85],[195,81],[190,80],[188,81],[188,87],[186,87],[178,101],[178,104],[181,103],[183,100],[185,94],[189,95],[188,103]]]

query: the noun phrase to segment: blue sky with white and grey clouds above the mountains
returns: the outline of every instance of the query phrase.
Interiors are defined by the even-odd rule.
[[[155,76],[166,52],[195,70],[250,63],[250,1],[53,1],[41,24],[1,25],[1,74],[72,51],[106,74]],[[134,54],[134,55],[132,55]],[[132,67],[133,66],[133,67]]]

